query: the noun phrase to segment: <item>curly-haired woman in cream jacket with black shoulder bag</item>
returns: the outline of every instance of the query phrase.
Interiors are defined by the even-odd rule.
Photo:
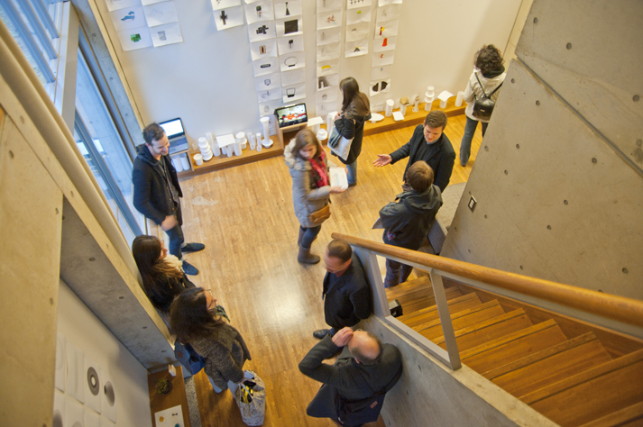
[[[475,55],[475,60],[473,61],[475,68],[464,90],[464,101],[467,104],[464,110],[466,125],[460,142],[460,166],[463,168],[471,155],[471,141],[473,140],[475,128],[478,127],[478,122],[482,123],[482,137],[484,137],[484,132],[487,132],[487,126],[489,125],[488,120],[481,120],[473,116],[475,99],[481,98],[485,94],[491,96],[492,101],[498,99],[500,91],[496,89],[501,86],[507,76],[503,63],[504,59],[502,59],[501,51],[492,44],[482,46],[482,49],[478,50]],[[495,93],[493,93],[494,90]],[[493,94],[490,95],[491,93]]]

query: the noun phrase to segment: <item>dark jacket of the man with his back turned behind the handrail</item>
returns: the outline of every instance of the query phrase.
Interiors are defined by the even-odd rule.
[[[410,190],[397,195],[397,198],[397,202],[391,202],[380,210],[384,227],[382,239],[389,245],[418,250],[442,206],[440,189],[433,185],[424,193]]]

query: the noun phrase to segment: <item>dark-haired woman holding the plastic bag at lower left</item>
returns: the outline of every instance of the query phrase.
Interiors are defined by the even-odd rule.
[[[170,308],[170,331],[206,360],[206,374],[217,393],[233,393],[245,374],[243,364],[251,360],[241,333],[218,315],[216,299],[201,287],[179,295]]]

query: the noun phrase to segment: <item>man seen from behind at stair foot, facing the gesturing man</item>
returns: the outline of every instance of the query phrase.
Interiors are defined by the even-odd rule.
[[[389,245],[418,250],[442,206],[442,193],[433,185],[433,170],[421,160],[407,170],[407,185],[410,189],[397,195],[397,202],[381,208],[382,239]],[[387,259],[384,287],[405,282],[411,271],[411,266]]]

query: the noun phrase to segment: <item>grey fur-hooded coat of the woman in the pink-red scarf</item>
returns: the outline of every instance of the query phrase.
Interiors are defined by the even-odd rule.
[[[295,215],[304,228],[317,227],[319,224],[312,223],[308,219],[310,213],[330,203],[330,186],[313,188],[312,166],[308,160],[299,159],[292,154],[295,140],[290,141],[283,150],[283,159],[286,162],[292,177],[292,204],[295,208]],[[324,159],[326,170],[328,170],[327,156]],[[332,164],[332,163],[331,163]]]

